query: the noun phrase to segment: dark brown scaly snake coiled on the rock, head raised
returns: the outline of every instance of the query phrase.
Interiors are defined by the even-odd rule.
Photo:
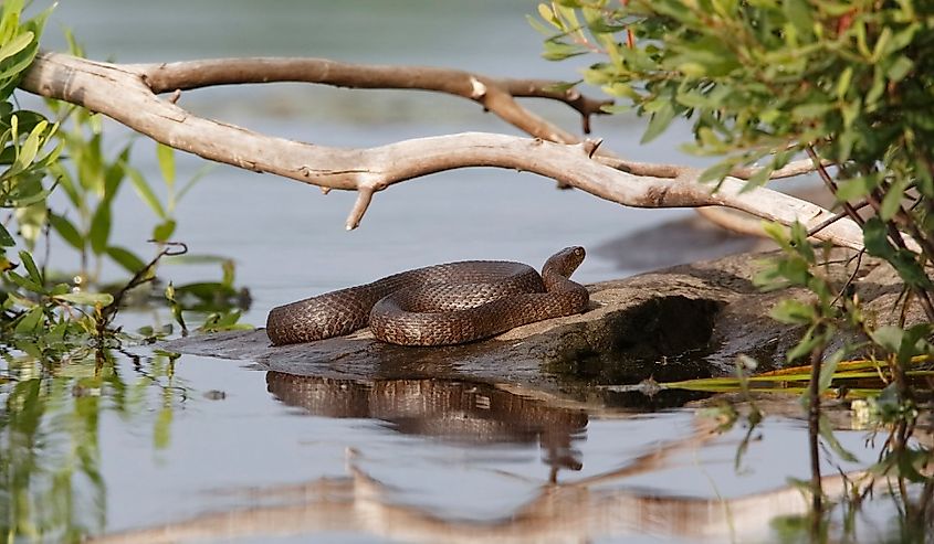
[[[273,345],[346,335],[369,326],[399,345],[451,345],[586,311],[587,288],[570,275],[583,247],[552,255],[539,275],[510,260],[462,260],[393,274],[371,284],[325,292],[273,308]]]

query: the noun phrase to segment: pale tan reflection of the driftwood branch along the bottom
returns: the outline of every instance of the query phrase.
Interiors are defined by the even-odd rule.
[[[330,395],[333,391],[324,394]],[[495,519],[463,520],[455,513],[439,514],[427,505],[406,504],[398,500],[399,492],[405,490],[385,484],[361,468],[358,460],[365,460],[365,452],[348,451],[345,477],[228,491],[249,499],[251,506],[114,533],[90,542],[224,542],[273,535],[326,537],[329,533],[348,531],[393,542],[472,544],[578,543],[623,535],[691,542],[806,540],[804,525],[795,520],[807,514],[808,498],[794,483],[732,499],[674,497],[626,486],[627,478],[658,470],[678,451],[696,447],[714,434],[712,428],[701,425],[690,436],[639,456],[620,469],[576,481],[545,483],[525,503]],[[490,435],[483,436],[481,440],[485,441]],[[842,499],[852,490],[853,481],[868,476],[850,472],[826,477],[825,491],[833,500]],[[891,482],[880,479],[874,489],[884,494],[889,486]]]

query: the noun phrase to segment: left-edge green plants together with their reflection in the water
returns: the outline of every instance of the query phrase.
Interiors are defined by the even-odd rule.
[[[54,120],[18,107],[13,92],[39,51],[49,14],[22,20],[23,8],[22,0],[0,3],[0,206],[8,211],[0,222],[0,534],[8,542],[78,542],[103,524],[101,412],[134,417],[159,405],[153,429],[159,448],[168,442],[172,410],[186,396],[174,384],[174,356],[157,354],[137,364],[141,377],[135,383],[114,363],[113,350],[122,343],[147,341],[170,328],[127,334],[114,318],[130,291],[156,280],[165,258],[187,252],[171,239],[172,214],[200,175],[176,191],[174,151],[158,148],[168,188],[161,202],[130,164],[132,140],[108,158],[97,116],[55,100],[46,103]],[[73,40],[72,51],[80,53]],[[126,180],[159,220],[150,259],[111,242],[115,196]],[[53,202],[56,191],[65,198]],[[77,253],[80,269],[51,269],[53,233]],[[105,285],[105,258],[129,277]],[[171,301],[162,305],[182,327],[189,309],[208,313],[206,330],[241,327],[232,262],[204,259],[221,264],[223,278],[174,288]],[[157,390],[158,399],[150,399]]]

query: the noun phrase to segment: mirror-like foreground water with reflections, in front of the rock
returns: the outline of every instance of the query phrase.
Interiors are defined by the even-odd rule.
[[[277,416],[258,420],[250,418],[260,410],[255,399],[266,397],[261,375],[225,362],[208,366],[206,361],[186,360],[179,365],[167,355],[92,350],[59,354],[55,360],[60,362],[7,353],[0,370],[0,529],[8,542],[77,542],[95,534],[99,536],[91,542],[234,537],[263,542],[272,535],[328,542],[334,532],[353,533],[356,540],[401,542],[581,542],[627,535],[691,542],[796,541],[802,535],[795,533],[795,520],[808,512],[807,497],[794,484],[773,489],[757,484],[716,497],[678,491],[667,478],[699,470],[716,474],[715,463],[736,448],[737,436],[724,442],[716,422],[709,418],[685,418],[692,422],[686,428],[671,428],[658,441],[643,440],[627,433],[646,434],[664,426],[664,420],[607,419],[606,414],[465,381],[361,382],[269,372],[264,385],[276,399],[269,403],[274,408],[270,413]],[[218,374],[223,369],[229,374]],[[187,378],[177,372],[187,373]],[[244,378],[242,387],[234,385],[233,376]],[[216,380],[227,384],[227,393],[210,388]],[[282,404],[296,409],[283,416],[276,407]],[[330,422],[377,419],[391,430],[367,426],[350,436],[359,426],[347,420],[332,426],[335,434],[327,435],[326,419],[294,417],[295,412]],[[115,420],[119,426],[113,426]],[[202,425],[204,420],[209,425]],[[270,424],[272,430],[263,434],[260,427]],[[209,435],[207,429],[220,431]],[[766,440],[778,430],[764,431]],[[244,435],[262,437],[254,440],[262,444],[252,445]],[[321,444],[303,445],[307,436],[321,438]],[[385,436],[408,437],[414,444],[387,442]],[[133,445],[137,440],[144,442],[141,448]],[[619,447],[632,440],[642,446]],[[344,472],[340,459],[330,469],[303,468],[308,459],[326,462],[318,448],[330,450],[334,445],[350,447]],[[522,480],[515,500],[483,515],[459,510],[478,499],[462,489],[463,482],[456,488],[440,486],[442,493],[464,495],[453,508],[439,506],[422,494],[423,480],[458,473],[447,459],[437,461],[439,452],[503,445],[516,450],[541,448],[548,477],[535,476],[534,470],[523,476],[516,465],[502,459],[473,463],[468,473],[482,481],[483,500],[512,489],[506,482]],[[139,456],[146,451],[167,455],[147,461]],[[270,476],[270,451],[285,467],[281,472],[285,478]],[[705,451],[714,451],[713,461],[704,458]],[[230,459],[223,459],[224,454]],[[168,459],[175,461],[165,470],[149,470],[149,462],[158,468]],[[578,472],[585,462],[586,470]],[[115,471],[122,463],[125,470]],[[219,470],[189,486],[208,463],[220,465]],[[407,472],[409,467],[413,472]],[[244,470],[255,476],[238,479],[238,471]],[[399,478],[399,472],[406,476]],[[927,476],[930,469],[922,472]],[[732,468],[721,474],[735,476]],[[847,516],[857,515],[852,512],[860,514],[844,498],[853,490],[851,482],[864,477],[850,470],[846,477],[825,478],[825,491],[843,505],[835,514],[840,526],[850,523]],[[730,489],[731,482],[721,483]],[[875,500],[862,512],[883,512],[870,525],[880,520],[890,523],[885,532],[891,534],[911,524],[891,508],[891,490],[900,492],[896,482],[879,479],[873,489]],[[907,489],[922,509],[920,519],[927,523],[934,486]],[[120,492],[133,499],[129,508],[138,510],[129,522],[116,513],[124,506],[118,504]],[[146,510],[147,503],[161,509],[167,501],[183,505],[170,512]]]

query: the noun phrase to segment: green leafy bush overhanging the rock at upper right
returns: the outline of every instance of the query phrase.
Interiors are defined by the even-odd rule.
[[[703,178],[763,162],[755,186],[802,150],[835,166],[820,173],[863,225],[867,252],[934,319],[934,1],[560,0],[538,11],[546,56],[599,54],[584,81],[650,118],[643,141],[692,121],[689,149],[724,157]],[[817,270],[806,230],[767,232],[784,257],[759,281],[816,296],[774,312],[805,328],[789,359],[828,344],[838,323],[860,329],[858,305]]]

